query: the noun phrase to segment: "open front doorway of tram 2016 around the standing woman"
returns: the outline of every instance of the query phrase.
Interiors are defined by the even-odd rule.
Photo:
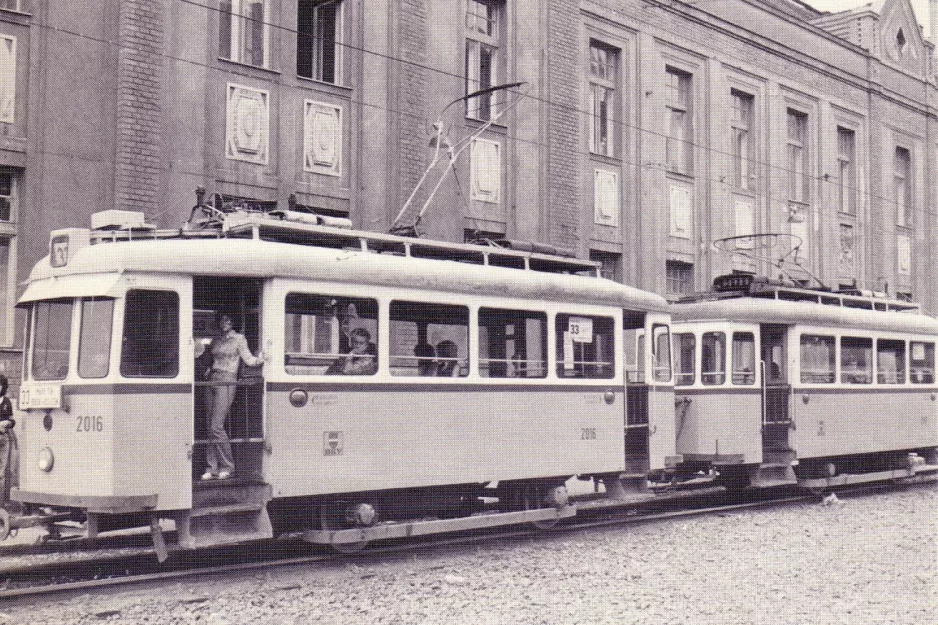
[[[212,367],[209,345],[218,334],[216,313],[232,317],[234,330],[247,339],[253,355],[261,351],[260,328],[261,292],[263,282],[253,278],[197,276],[193,284],[193,338],[196,342],[194,392],[195,446],[192,454],[193,477],[207,467],[206,451],[209,443],[210,389],[234,389],[234,401],[228,412],[225,430],[231,442],[235,464],[234,478],[261,480],[264,453],[264,379],[262,367],[249,367],[239,359],[234,381],[211,379],[207,372]]]

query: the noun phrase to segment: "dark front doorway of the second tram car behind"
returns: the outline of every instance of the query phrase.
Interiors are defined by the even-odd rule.
[[[791,384],[788,379],[787,326],[765,324],[762,336],[762,447],[787,451],[791,425]]]

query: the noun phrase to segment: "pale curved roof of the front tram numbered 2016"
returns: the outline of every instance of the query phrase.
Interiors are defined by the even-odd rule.
[[[142,239],[88,245],[64,267],[45,257],[33,268],[20,303],[80,296],[81,282],[124,272],[296,278],[392,286],[441,293],[508,296],[666,312],[661,296],[595,276],[559,274],[373,251],[247,238]],[[80,282],[70,276],[76,277]],[[56,284],[53,285],[53,282]],[[66,293],[60,287],[73,283]],[[113,284],[113,283],[112,283]],[[60,295],[53,295],[59,292]],[[92,295],[92,293],[87,293]]]

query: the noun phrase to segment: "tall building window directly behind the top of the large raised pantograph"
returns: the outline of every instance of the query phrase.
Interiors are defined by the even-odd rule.
[[[498,84],[504,3],[468,0],[466,3],[466,93]],[[495,114],[495,93],[466,100],[466,116],[490,120]]]

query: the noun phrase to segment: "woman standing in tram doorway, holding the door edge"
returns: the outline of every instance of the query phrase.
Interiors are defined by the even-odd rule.
[[[209,345],[212,366],[206,376],[212,385],[206,388],[205,393],[209,443],[205,454],[208,468],[202,474],[203,480],[224,480],[234,473],[234,456],[231,443],[228,442],[228,432],[225,431],[225,421],[238,389],[238,365],[241,360],[250,367],[264,362],[263,352],[253,356],[247,339],[243,334],[235,332],[231,315],[219,312],[215,315],[215,323],[218,336]]]

